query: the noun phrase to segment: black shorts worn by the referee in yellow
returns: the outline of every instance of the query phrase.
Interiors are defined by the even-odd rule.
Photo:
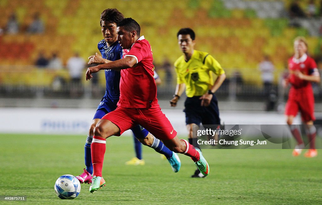
[[[185,123],[196,125],[220,125],[218,101],[215,95],[208,107],[201,106],[201,96],[186,98],[185,100]]]

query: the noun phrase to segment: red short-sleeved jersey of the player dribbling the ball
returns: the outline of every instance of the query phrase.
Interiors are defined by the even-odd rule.
[[[121,70],[119,107],[148,108],[157,103],[153,78],[153,56],[150,43],[141,36],[131,47],[123,50],[123,58],[137,60],[132,68]]]

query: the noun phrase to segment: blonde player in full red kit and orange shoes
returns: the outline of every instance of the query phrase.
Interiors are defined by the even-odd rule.
[[[314,95],[312,82],[320,82],[320,75],[316,62],[307,55],[308,43],[304,37],[297,37],[294,40],[294,56],[288,61],[289,76],[284,80],[284,86],[291,84],[289,99],[285,107],[287,124],[291,133],[297,141],[293,150],[293,156],[301,154],[305,147],[299,130],[293,124],[294,117],[301,113],[303,124],[309,140],[310,149],[304,154],[305,157],[317,156],[315,148],[316,128],[313,125],[314,116]]]

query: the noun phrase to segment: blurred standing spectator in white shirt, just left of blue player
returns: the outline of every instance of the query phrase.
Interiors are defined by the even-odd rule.
[[[81,77],[83,74],[83,70],[85,68],[86,62],[79,56],[79,53],[75,53],[73,57],[71,57],[67,61],[67,69],[69,71],[69,75],[71,76],[71,97],[79,97],[81,90]]]

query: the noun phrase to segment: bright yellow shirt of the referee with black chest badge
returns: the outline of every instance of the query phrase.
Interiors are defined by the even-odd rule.
[[[211,71],[216,75],[225,73],[218,61],[207,52],[194,50],[188,62],[184,55],[175,61],[177,84],[185,83],[185,93],[189,98],[202,96],[213,86]]]

